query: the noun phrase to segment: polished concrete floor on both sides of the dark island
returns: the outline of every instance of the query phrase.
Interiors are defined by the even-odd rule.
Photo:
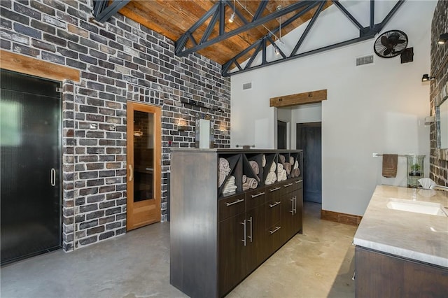
[[[320,220],[304,204],[297,234],[228,297],[354,297],[356,227]],[[0,297],[186,297],[169,284],[169,223],[71,253],[57,250],[0,269]]]

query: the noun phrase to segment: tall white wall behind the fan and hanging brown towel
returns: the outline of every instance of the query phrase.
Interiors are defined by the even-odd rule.
[[[391,5],[376,1],[376,10],[381,2]],[[358,2],[344,3],[353,15],[362,15]],[[375,55],[374,64],[356,67],[356,57],[373,53],[373,38],[232,76],[231,145],[274,148],[276,109],[269,108],[269,98],[326,89],[328,100],[321,106],[324,210],[363,215],[377,184],[405,185],[405,163],[399,159],[398,178],[381,178],[381,157],[372,157],[372,152],[426,155],[428,176],[429,128],[423,122],[430,113],[429,84],[421,83],[421,76],[430,71],[430,22],[436,3],[406,1],[383,30],[405,31],[414,62],[400,64],[400,57]],[[337,8],[323,13],[332,34],[353,30],[350,22],[337,21]],[[325,30],[321,36],[325,38]],[[243,91],[242,84],[248,82],[252,89]]]

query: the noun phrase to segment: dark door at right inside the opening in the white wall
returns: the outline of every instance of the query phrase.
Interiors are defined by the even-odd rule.
[[[321,122],[297,123],[296,148],[303,150],[303,200],[322,203]]]

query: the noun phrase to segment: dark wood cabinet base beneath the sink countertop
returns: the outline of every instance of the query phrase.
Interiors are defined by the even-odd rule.
[[[447,297],[448,268],[355,248],[356,297]]]

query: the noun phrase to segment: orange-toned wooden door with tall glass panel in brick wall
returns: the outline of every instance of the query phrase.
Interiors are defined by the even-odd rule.
[[[160,122],[160,107],[127,102],[128,231],[161,218]]]

